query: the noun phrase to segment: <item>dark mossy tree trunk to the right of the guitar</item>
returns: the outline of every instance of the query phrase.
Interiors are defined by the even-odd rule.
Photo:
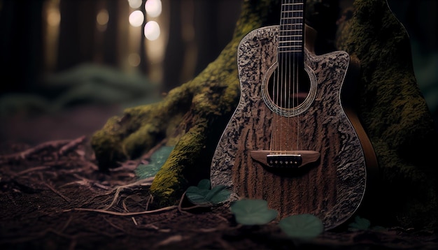
[[[372,194],[381,221],[402,226],[437,222],[437,135],[418,89],[409,36],[384,0],[356,0],[337,45],[361,61],[358,115],[379,160],[380,189]]]

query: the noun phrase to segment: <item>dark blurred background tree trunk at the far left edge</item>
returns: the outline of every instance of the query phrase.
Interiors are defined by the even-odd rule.
[[[43,65],[43,1],[2,1],[0,94],[36,89]]]

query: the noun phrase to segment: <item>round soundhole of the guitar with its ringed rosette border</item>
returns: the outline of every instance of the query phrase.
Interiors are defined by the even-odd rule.
[[[288,68],[274,64],[262,82],[264,103],[278,115],[298,115],[311,105],[316,94],[316,77],[308,66]]]

